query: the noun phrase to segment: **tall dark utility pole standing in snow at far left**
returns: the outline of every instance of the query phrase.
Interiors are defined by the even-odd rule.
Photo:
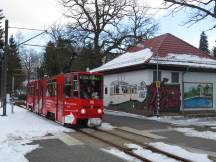
[[[3,116],[6,116],[6,104],[7,104],[7,53],[8,53],[8,20],[5,20],[5,51],[4,51],[4,63],[3,63],[3,94],[2,94],[2,99],[3,99]]]

